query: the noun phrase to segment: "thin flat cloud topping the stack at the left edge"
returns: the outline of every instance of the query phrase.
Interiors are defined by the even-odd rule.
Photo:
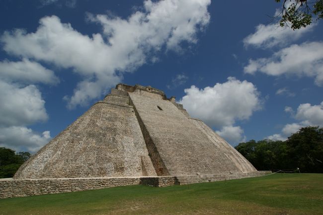
[[[18,62],[0,62],[0,71],[0,78],[6,82],[22,82],[24,84],[57,84],[59,82],[52,70],[25,58]]]

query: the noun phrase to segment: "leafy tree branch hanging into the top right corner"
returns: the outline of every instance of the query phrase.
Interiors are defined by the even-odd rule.
[[[280,18],[280,26],[293,30],[310,25],[313,19],[323,18],[323,0],[275,0],[283,1],[282,10],[276,17]]]

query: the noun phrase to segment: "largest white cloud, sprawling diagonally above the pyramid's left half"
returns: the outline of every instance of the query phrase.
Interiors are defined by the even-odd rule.
[[[36,32],[22,29],[1,36],[7,53],[73,68],[83,80],[66,96],[69,108],[87,105],[105,94],[122,79],[122,73],[133,71],[154,61],[161,50],[181,51],[181,43],[196,43],[196,33],[210,20],[211,0],[144,1],[142,11],[127,19],[108,15],[89,15],[99,23],[103,33],[83,35],[57,16],[40,19]]]

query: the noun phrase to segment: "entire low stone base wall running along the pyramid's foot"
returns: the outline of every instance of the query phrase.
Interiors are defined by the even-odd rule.
[[[165,177],[124,177],[124,178],[74,178],[74,179],[25,179],[0,180],[0,199],[26,197],[43,194],[68,193],[74,191],[96,190],[117,186],[149,185],[166,187],[201,182],[224,181],[231,179],[249,178],[266,175],[270,171],[250,173],[165,176]]]

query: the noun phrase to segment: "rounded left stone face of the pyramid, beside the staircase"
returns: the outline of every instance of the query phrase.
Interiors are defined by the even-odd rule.
[[[93,105],[24,163],[14,178],[156,176],[129,98],[121,94]]]

